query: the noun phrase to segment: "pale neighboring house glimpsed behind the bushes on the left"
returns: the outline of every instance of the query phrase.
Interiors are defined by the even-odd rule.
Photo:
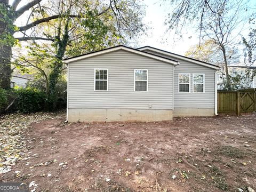
[[[17,71],[14,71],[11,77],[11,88],[14,86],[26,87],[27,83],[34,78],[34,75],[30,74],[20,74]]]

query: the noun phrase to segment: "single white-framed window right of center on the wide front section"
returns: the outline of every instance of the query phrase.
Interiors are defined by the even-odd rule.
[[[134,69],[134,91],[148,91],[148,69]]]

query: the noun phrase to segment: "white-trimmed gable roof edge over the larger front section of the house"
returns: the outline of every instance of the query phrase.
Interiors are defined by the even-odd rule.
[[[170,63],[172,65],[179,65],[179,62],[175,61],[173,59],[168,59],[168,58],[165,58],[165,57],[161,57],[161,56],[154,55],[154,54],[151,54],[151,53],[147,53],[147,52],[144,52],[144,51],[140,51],[140,50],[137,50],[137,49],[132,49],[132,48],[124,46],[124,45],[118,45],[118,46],[115,46],[115,47],[110,47],[108,49],[103,49],[103,50],[100,50],[100,51],[95,51],[95,52],[91,52],[91,53],[78,55],[76,57],[71,57],[71,58],[65,59],[65,60],[63,60],[63,62],[68,64],[68,63],[75,62],[75,61],[78,61],[78,60],[82,60],[82,59],[94,57],[96,55],[110,53],[110,52],[114,52],[114,51],[118,51],[118,50],[124,50],[124,51],[128,51],[128,52],[131,52],[131,53],[143,55],[145,57],[152,58],[152,59],[155,59],[155,60],[158,60],[158,61],[163,61],[163,62],[166,62],[166,63]]]

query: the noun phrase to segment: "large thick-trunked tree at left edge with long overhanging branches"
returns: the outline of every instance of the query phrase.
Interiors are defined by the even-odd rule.
[[[54,36],[54,38],[47,34],[49,31],[51,31],[51,28],[49,28],[49,31],[40,31],[41,33],[39,33],[37,27],[44,25],[45,23],[49,23],[53,20],[65,20],[67,28],[69,28],[69,25],[73,20],[86,18],[88,16],[87,13],[89,13],[89,8],[89,11],[91,11],[91,13],[92,10],[96,11],[98,17],[105,13],[111,15],[111,17],[114,18],[119,31],[124,32],[125,30],[127,30],[124,33],[126,35],[134,35],[143,30],[143,25],[141,23],[141,19],[143,16],[142,7],[138,5],[135,0],[110,0],[108,4],[106,4],[106,1],[103,0],[49,0],[48,2],[46,0],[33,0],[17,9],[18,5],[21,2],[23,1],[14,0],[13,3],[9,5],[8,0],[0,0],[0,16],[1,18],[3,18],[0,20],[0,85],[5,89],[9,88],[10,86],[10,76],[12,73],[12,70],[10,68],[12,47],[17,44],[18,41],[52,41],[57,46],[61,45],[64,50],[66,49],[66,46],[63,45],[67,43],[65,42],[66,38],[65,36],[61,36],[65,33],[59,34],[61,36],[61,39],[59,38],[60,36],[58,37],[58,33],[55,34],[57,36]],[[66,4],[66,7],[62,6]],[[69,5],[72,6],[68,8]],[[30,13],[27,18],[27,24],[25,26],[15,26],[14,22],[18,18],[20,18],[23,13],[25,13],[25,11],[28,10],[30,11]],[[61,29],[59,31],[65,29],[65,27],[63,28],[62,26],[60,28]],[[68,30],[72,31],[73,29],[69,28]],[[33,33],[35,31],[37,33]],[[67,31],[66,37],[69,35],[70,31]],[[22,33],[23,36],[14,38],[14,34],[16,32]],[[59,49],[57,58],[60,58],[61,56],[63,57],[62,50]]]

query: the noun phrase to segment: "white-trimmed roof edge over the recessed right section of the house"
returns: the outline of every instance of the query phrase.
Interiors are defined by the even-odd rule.
[[[207,63],[207,62],[199,61],[199,60],[196,60],[196,59],[188,58],[188,57],[185,57],[185,56],[182,56],[182,55],[179,55],[179,54],[171,53],[171,52],[164,51],[164,50],[161,50],[161,49],[157,49],[157,48],[151,47],[151,46],[143,46],[143,47],[138,48],[137,50],[140,50],[140,51],[146,51],[146,50],[155,51],[157,53],[164,54],[164,55],[173,57],[175,59],[181,59],[181,60],[189,61],[189,62],[196,63],[198,65],[202,65],[204,67],[209,67],[209,68],[212,68],[212,69],[215,69],[215,70],[220,69],[219,66],[212,65],[211,63]]]

